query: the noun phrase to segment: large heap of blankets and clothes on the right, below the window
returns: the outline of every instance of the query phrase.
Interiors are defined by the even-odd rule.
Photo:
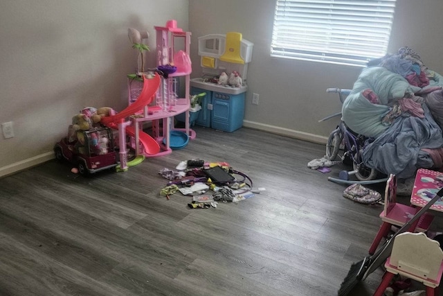
[[[400,179],[417,168],[443,167],[443,76],[415,51],[368,63],[343,102],[342,119],[368,137],[365,166]]]

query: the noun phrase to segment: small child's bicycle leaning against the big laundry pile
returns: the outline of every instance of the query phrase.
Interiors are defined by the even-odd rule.
[[[346,96],[350,94],[351,89],[328,88],[326,92],[329,94],[338,94],[343,104]],[[336,116],[341,116],[341,112],[329,115],[324,119],[320,119],[318,122],[326,121]],[[341,171],[339,174],[341,180],[349,180],[350,175],[355,175],[359,181],[369,182],[377,177],[378,171],[365,166],[361,158],[367,139],[367,137],[356,134],[350,130],[350,128],[347,128],[343,120],[341,120],[336,129],[329,134],[326,143],[326,158],[334,161],[337,157],[340,157],[341,162],[344,164],[350,164],[352,162],[353,171]]]

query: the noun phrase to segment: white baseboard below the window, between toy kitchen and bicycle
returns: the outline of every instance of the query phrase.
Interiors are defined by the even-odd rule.
[[[326,145],[327,137],[319,136],[318,134],[309,134],[308,132],[300,132],[298,130],[289,130],[289,128],[280,128],[279,126],[269,125],[264,123],[258,123],[255,121],[243,121],[245,128],[253,128],[255,130],[263,130],[265,132],[271,132],[273,134],[280,134],[285,137],[298,139],[302,141],[308,141],[312,143],[318,143]]]

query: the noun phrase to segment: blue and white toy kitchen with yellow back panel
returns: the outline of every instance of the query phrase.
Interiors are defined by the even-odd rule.
[[[190,80],[191,95],[206,92],[195,123],[233,132],[243,125],[246,74],[253,43],[241,33],[210,34],[198,38],[204,75]]]

